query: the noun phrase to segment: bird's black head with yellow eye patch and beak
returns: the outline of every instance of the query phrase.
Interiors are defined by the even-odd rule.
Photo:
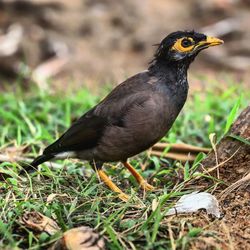
[[[218,38],[194,31],[176,31],[161,41],[155,53],[155,60],[191,62],[201,50],[222,43]]]

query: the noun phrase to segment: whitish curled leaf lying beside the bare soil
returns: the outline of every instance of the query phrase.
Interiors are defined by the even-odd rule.
[[[193,213],[199,209],[206,209],[208,214],[212,214],[217,218],[220,217],[220,209],[218,200],[211,194],[206,192],[193,192],[183,195],[176,205],[169,209],[167,215],[180,213]]]

